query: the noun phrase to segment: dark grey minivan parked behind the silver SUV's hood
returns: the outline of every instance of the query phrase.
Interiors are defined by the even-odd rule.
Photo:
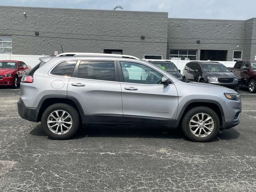
[[[190,81],[209,83],[238,90],[238,78],[219,62],[193,61],[186,64],[183,78]]]

